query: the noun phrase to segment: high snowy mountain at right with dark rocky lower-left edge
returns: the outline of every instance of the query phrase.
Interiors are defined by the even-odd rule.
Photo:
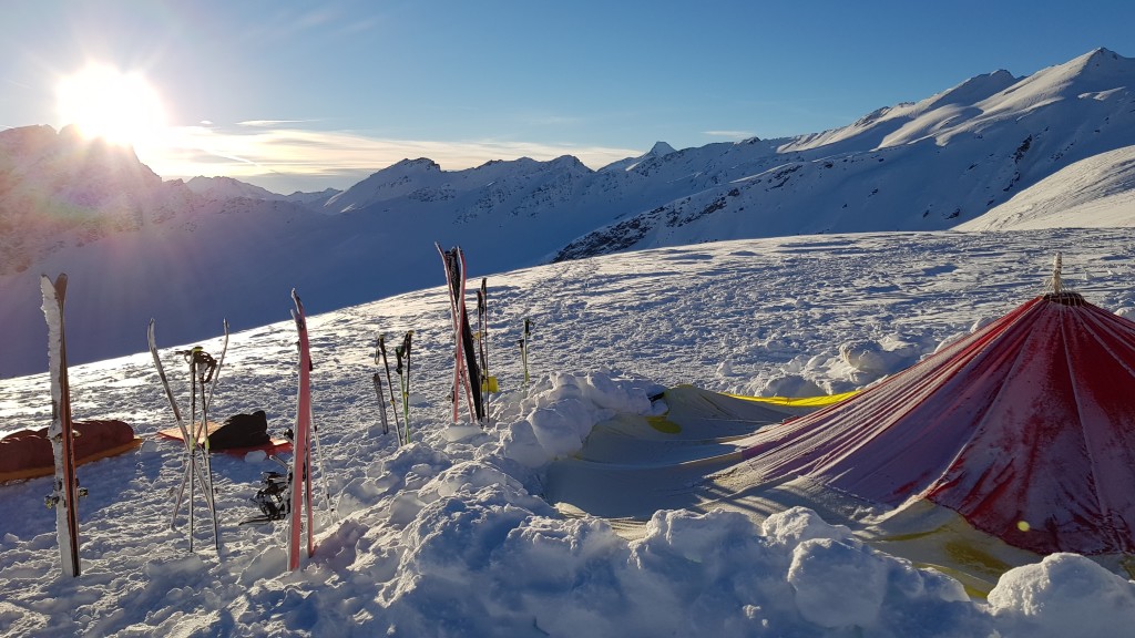
[[[1098,163],[1083,175],[1108,179],[1107,162],[1123,154],[1105,153],[1132,145],[1135,60],[1098,49],[1028,77],[997,72],[779,141],[747,175],[717,173],[721,185],[589,233],[556,259],[730,237],[949,228],[1088,158]]]

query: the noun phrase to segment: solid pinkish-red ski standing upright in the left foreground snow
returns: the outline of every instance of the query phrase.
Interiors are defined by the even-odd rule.
[[[303,313],[300,295],[292,291],[295,310],[295,328],[300,334],[300,388],[295,414],[295,431],[292,440],[292,486],[289,505],[291,526],[288,527],[287,569],[300,569],[300,548],[303,542],[303,527],[306,522],[308,556],[316,553],[314,528],[312,521],[311,498],[311,351],[308,343],[308,320]]]

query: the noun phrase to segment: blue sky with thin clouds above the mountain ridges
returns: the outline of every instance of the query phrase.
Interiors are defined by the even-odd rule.
[[[850,124],[1004,68],[1135,57],[1135,2],[5,0],[0,127],[59,128],[57,86],[142,76],[163,177],[345,188],[403,158],[445,169]]]

